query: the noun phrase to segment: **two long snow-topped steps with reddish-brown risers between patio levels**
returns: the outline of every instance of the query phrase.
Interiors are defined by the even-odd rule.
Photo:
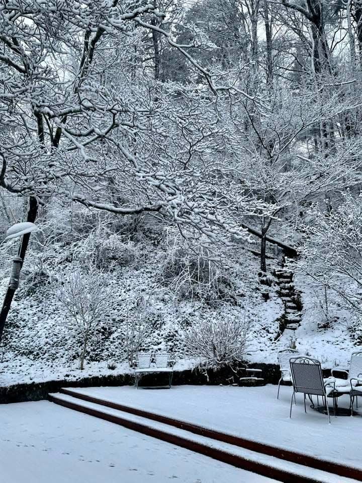
[[[120,405],[115,401],[82,394],[81,389],[62,391],[62,394],[49,394],[50,401],[277,481],[352,483],[352,477],[362,480],[360,469],[298,453],[294,449],[259,443],[195,423]]]

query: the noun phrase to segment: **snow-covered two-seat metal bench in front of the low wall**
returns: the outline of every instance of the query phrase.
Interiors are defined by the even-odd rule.
[[[157,372],[168,374],[168,388],[171,388],[174,360],[170,358],[168,352],[138,352],[135,354],[133,363],[136,389],[138,389],[142,376]]]

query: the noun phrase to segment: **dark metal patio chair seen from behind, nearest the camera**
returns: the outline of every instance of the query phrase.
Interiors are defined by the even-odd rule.
[[[312,403],[312,407],[314,407],[314,404],[311,396],[322,396],[322,399],[324,400],[324,405],[327,409],[328,422],[330,423],[327,396],[330,392],[333,391],[334,384],[330,380],[324,382],[320,362],[317,359],[312,359],[310,357],[297,356],[290,359],[290,368],[293,382],[293,394],[291,398],[289,417],[292,417],[293,396],[295,396],[297,392],[301,392],[304,394],[305,412],[307,412],[307,395]]]

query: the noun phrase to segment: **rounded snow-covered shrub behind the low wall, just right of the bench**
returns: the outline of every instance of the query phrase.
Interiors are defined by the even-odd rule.
[[[245,318],[200,321],[185,332],[186,352],[205,358],[212,367],[231,365],[245,356],[250,330],[251,322]]]

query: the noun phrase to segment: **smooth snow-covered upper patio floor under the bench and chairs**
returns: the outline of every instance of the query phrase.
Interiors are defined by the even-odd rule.
[[[277,386],[274,385],[174,386],[171,390],[94,387],[77,390],[328,461],[362,467],[359,444],[362,411],[353,417],[331,416],[329,425],[325,415],[309,407],[305,414],[302,395],[298,394],[290,419],[290,386],[281,387],[279,400]],[[339,398],[339,406],[348,408],[347,395]]]

